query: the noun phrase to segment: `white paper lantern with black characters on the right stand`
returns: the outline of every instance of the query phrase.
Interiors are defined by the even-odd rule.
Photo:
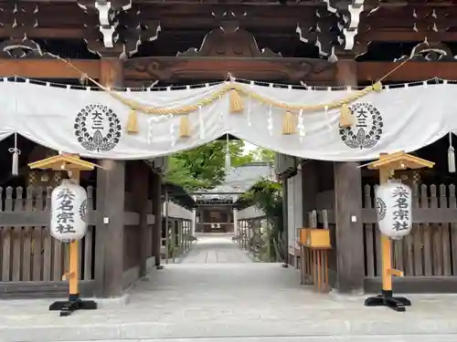
[[[411,188],[388,181],[376,191],[377,222],[381,233],[393,240],[408,235],[412,226]]]

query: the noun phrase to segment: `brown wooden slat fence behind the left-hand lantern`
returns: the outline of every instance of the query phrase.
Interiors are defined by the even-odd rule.
[[[48,231],[51,192],[42,187],[0,188],[0,282],[61,281],[68,269],[68,246]],[[83,280],[93,279],[93,188],[87,192],[90,226],[80,243]]]

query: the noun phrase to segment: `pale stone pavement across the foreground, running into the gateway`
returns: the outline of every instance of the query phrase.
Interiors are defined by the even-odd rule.
[[[456,295],[409,295],[406,313],[366,307],[365,295],[315,294],[292,267],[247,263],[225,244],[244,262],[168,264],[127,305],[58,317],[48,299],[0,302],[0,342],[457,342]]]

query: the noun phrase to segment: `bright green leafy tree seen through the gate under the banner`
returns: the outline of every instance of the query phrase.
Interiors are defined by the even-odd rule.
[[[170,156],[166,181],[182,186],[187,192],[216,187],[225,180],[225,156],[227,142],[215,140],[193,150],[175,153]],[[253,160],[250,155],[243,155],[242,140],[228,141],[232,167],[240,166]]]

